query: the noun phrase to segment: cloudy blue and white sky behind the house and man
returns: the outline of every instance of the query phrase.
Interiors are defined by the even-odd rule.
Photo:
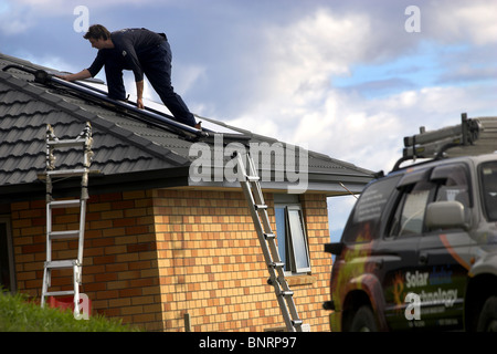
[[[0,0],[0,52],[78,72],[96,55],[87,24],[165,32],[193,113],[387,173],[420,126],[497,116],[496,13],[495,0]],[[355,200],[329,199],[332,238]]]

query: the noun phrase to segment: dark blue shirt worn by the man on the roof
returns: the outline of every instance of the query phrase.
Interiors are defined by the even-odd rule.
[[[114,43],[112,49],[101,49],[92,66],[87,70],[94,77],[102,67],[113,61],[113,65],[121,70],[131,70],[135,81],[144,80],[140,60],[147,58],[148,52],[166,40],[166,34],[156,33],[147,29],[125,29],[110,33]]]

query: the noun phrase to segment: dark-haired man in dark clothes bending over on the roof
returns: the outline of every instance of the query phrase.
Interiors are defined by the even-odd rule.
[[[193,114],[171,85],[172,55],[166,34],[147,29],[124,29],[110,33],[102,24],[94,24],[89,27],[84,39],[98,50],[95,61],[88,69],[61,76],[62,79],[75,81],[94,77],[105,65],[108,96],[125,101],[123,70],[131,70],[135,74],[138,108],[144,108],[146,75],[176,121],[200,128],[200,123],[195,123]]]

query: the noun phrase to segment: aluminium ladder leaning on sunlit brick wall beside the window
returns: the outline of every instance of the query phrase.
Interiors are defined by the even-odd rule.
[[[284,267],[276,244],[276,236],[273,232],[267,216],[267,205],[261,189],[261,178],[257,176],[254,160],[250,153],[246,153],[246,168],[243,164],[243,156],[235,153],[239,167],[239,180],[245,198],[248,202],[252,220],[258,236],[258,241],[264,254],[264,260],[269,272],[267,283],[274,287],[276,300],[282,310],[288,332],[303,332],[303,321],[298,317],[294,302],[294,292],[289,289],[285,279]]]

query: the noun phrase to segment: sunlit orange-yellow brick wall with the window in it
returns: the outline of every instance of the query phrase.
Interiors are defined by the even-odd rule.
[[[265,195],[272,207],[272,195]],[[327,331],[331,261],[326,197],[302,197],[313,273],[289,279],[300,317]],[[269,217],[274,222],[273,209]],[[264,331],[284,326],[242,192],[155,191],[158,262],[165,330]],[[274,227],[274,223],[273,223]]]

